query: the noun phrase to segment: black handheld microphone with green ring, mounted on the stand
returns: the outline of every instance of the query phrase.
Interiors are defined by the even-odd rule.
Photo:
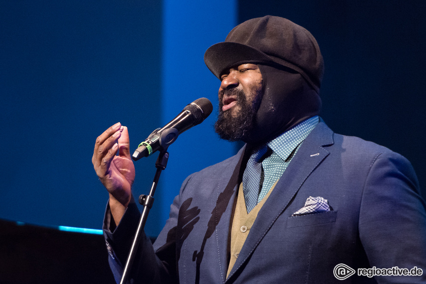
[[[203,122],[213,110],[211,102],[206,98],[200,98],[187,105],[172,121],[162,128],[155,129],[144,142],[140,143],[132,155],[132,159],[137,161],[140,158],[148,157],[152,153],[167,150],[177,136]]]

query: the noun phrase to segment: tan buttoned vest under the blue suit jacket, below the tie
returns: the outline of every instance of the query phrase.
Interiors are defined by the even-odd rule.
[[[246,201],[244,200],[243,193],[243,183],[240,183],[240,187],[238,189],[237,205],[235,206],[234,219],[232,221],[231,228],[231,258],[228,266],[227,277],[238,258],[241,248],[246,241],[247,235],[249,234],[256,217],[258,216],[259,210],[262,208],[266,199],[268,199],[276,184],[277,182],[274,183],[262,201],[259,202],[255,208],[253,208],[252,211],[247,214]]]

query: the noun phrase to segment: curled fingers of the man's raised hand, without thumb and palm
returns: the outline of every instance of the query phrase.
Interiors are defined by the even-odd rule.
[[[121,136],[121,131],[123,131],[123,127],[121,123],[116,123],[104,133],[102,133],[97,139],[95,143],[95,149],[93,151],[92,163],[95,169],[103,164],[108,164],[108,160],[112,159],[117,153],[117,149],[112,150],[114,144],[117,143],[118,139]],[[114,154],[112,154],[114,153]],[[107,157],[108,155],[108,157]]]

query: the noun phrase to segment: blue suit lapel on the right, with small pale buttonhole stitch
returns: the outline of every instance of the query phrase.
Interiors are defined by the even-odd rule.
[[[332,137],[333,132],[331,129],[320,120],[320,123],[302,143],[271,195],[259,211],[229,278],[247,261],[279,215],[287,208],[308,176],[328,156],[328,151],[322,146],[333,144]]]

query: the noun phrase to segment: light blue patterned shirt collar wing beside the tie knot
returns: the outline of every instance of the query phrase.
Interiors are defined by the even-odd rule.
[[[317,115],[308,118],[266,144],[285,161],[294,149],[305,140],[318,122],[319,117]]]

